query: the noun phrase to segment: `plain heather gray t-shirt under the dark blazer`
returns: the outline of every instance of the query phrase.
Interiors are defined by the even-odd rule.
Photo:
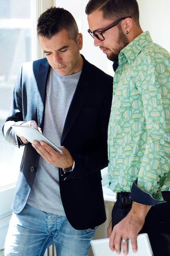
[[[81,71],[60,76],[52,68],[46,88],[43,134],[60,145],[62,132]],[[27,203],[36,209],[65,216],[60,197],[58,168],[40,156],[37,173]]]

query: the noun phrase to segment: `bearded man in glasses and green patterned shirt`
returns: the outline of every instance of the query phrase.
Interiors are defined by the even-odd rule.
[[[117,193],[110,249],[148,233],[170,255],[170,54],[139,25],[136,0],[90,0],[88,32],[117,66],[108,126],[108,187]],[[118,65],[116,65],[118,63]],[[113,230],[112,230],[113,229]]]

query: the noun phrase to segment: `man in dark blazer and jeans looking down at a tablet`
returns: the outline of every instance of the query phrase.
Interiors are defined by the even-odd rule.
[[[79,53],[82,34],[68,11],[51,7],[38,20],[46,58],[24,63],[2,132],[24,145],[4,255],[88,255],[106,220],[100,170],[108,165],[107,126],[113,78]],[[29,143],[12,124],[33,126],[63,153]],[[60,146],[61,145],[61,146]]]

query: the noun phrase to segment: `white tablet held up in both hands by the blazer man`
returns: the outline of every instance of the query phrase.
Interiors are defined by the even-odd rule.
[[[45,137],[41,132],[39,132],[33,126],[13,124],[11,125],[11,127],[14,128],[16,131],[20,132],[20,134],[22,134],[22,136],[25,137],[29,142],[33,143],[34,140],[38,142],[44,141],[53,149],[55,149],[57,152],[62,153],[62,150],[59,147],[57,147],[51,140]]]

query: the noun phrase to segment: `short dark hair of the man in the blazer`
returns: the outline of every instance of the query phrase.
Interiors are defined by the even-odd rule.
[[[68,31],[68,37],[74,41],[79,33],[77,23],[73,15],[59,7],[50,7],[38,18],[37,34],[46,38],[51,38],[63,29]]]

